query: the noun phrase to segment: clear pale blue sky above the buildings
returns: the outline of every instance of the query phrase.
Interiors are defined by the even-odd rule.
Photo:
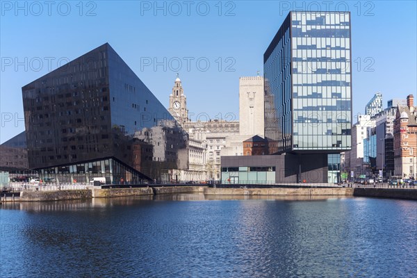
[[[350,10],[354,115],[416,95],[416,1],[1,1],[0,142],[24,131],[22,86],[105,42],[165,106],[178,72],[192,120],[238,119],[239,76],[290,10]]]

